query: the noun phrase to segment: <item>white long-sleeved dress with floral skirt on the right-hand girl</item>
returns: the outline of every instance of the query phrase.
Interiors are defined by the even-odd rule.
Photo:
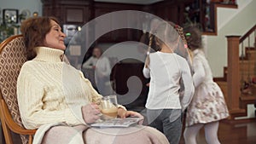
[[[212,80],[212,71],[201,49],[193,51],[195,95],[186,114],[186,126],[207,124],[229,116],[224,95]]]

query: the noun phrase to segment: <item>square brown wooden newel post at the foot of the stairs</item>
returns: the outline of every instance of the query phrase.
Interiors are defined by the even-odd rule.
[[[228,95],[227,104],[230,113],[240,109],[240,66],[239,66],[239,39],[240,36],[226,36],[228,40]]]

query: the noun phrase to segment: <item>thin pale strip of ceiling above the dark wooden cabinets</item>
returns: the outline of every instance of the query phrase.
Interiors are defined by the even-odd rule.
[[[108,3],[133,3],[133,4],[151,4],[163,0],[94,0],[95,2],[108,2]]]

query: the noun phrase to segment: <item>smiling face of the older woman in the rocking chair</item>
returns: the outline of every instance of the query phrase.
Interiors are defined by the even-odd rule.
[[[51,28],[45,36],[44,45],[53,49],[65,50],[64,38],[66,35],[61,32],[61,26],[55,20],[50,20],[50,25]]]

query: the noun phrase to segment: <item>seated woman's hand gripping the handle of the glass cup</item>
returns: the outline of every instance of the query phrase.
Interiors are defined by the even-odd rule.
[[[82,107],[82,114],[86,124],[95,123],[100,118],[101,111],[96,103],[90,103]]]

